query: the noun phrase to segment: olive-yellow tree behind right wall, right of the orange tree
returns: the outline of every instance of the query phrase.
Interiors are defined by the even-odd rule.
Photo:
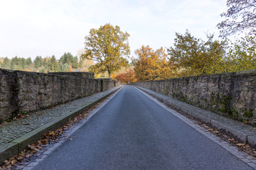
[[[186,77],[218,72],[211,66],[216,66],[215,62],[223,62],[225,45],[225,40],[213,40],[213,35],[208,35],[208,40],[203,41],[187,30],[184,35],[176,33],[174,47],[169,47],[167,51],[170,62]]]

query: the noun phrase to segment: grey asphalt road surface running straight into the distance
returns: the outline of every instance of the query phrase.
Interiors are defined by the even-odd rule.
[[[34,169],[251,169],[133,86]]]

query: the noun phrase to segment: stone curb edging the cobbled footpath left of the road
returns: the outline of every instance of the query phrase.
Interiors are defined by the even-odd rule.
[[[4,149],[0,148],[0,165],[3,164],[6,159],[9,159],[10,157],[13,157],[18,153],[21,153],[24,149],[27,148],[28,145],[36,142],[41,137],[41,135],[43,135],[44,132],[58,129],[60,126],[65,125],[68,120],[74,118],[76,115],[79,115],[84,111],[87,111],[87,109],[95,106],[95,104],[104,100],[111,94],[114,94],[115,91],[118,91],[121,88],[122,86],[110,92],[109,94],[105,94],[104,96],[97,98],[95,101],[92,101],[84,106],[80,106],[80,108],[77,108],[74,111],[67,112],[65,115],[60,116],[60,118],[57,118],[45,125],[42,125],[39,128],[36,128],[35,130],[32,130],[31,132],[26,133],[25,135],[22,135],[21,137],[16,138],[8,144],[9,146]]]

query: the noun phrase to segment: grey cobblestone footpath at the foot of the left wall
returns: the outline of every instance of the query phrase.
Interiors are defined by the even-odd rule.
[[[43,125],[53,122],[54,120],[59,119],[63,115],[72,113],[76,109],[82,108],[83,106],[87,106],[90,103],[102,98],[103,96],[111,94],[113,91],[116,91],[119,88],[120,86],[117,86],[113,89],[93,94],[92,96],[87,96],[85,98],[80,98],[75,101],[70,101],[69,103],[65,103],[63,105],[58,105],[53,108],[49,108],[42,111],[36,111],[30,113],[28,118],[14,120],[9,124],[1,125],[0,159],[3,159],[3,157],[1,156],[1,152],[4,152],[6,149],[9,149],[10,147],[14,147],[14,149],[16,149],[16,146],[13,146],[14,143],[12,142],[18,139],[19,137],[23,137],[23,135],[26,135],[29,132],[36,130],[38,128],[41,128]],[[0,162],[0,164],[1,163],[2,162]]]

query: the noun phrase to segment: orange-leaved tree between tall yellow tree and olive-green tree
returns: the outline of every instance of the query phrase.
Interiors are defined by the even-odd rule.
[[[167,54],[163,47],[153,50],[149,45],[137,49],[134,59],[134,72],[138,81],[156,79],[168,79],[171,77],[171,69],[167,60]]]

